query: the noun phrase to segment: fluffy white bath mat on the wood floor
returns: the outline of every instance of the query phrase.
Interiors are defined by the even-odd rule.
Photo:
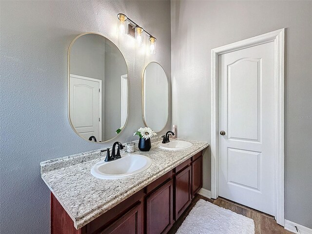
[[[176,234],[254,234],[254,220],[199,199]]]

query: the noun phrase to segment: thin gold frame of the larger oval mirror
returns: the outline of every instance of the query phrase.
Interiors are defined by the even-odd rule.
[[[98,141],[97,141],[97,142],[95,142],[95,141],[90,141],[90,140],[88,140],[88,139],[86,139],[86,138],[80,136],[80,134],[76,131],[76,129],[75,129],[73,123],[72,123],[72,120],[71,120],[71,118],[70,118],[70,102],[69,102],[69,98],[70,98],[70,96],[69,96],[69,88],[70,88],[70,87],[69,87],[69,85],[70,85],[70,83],[69,83],[69,79],[70,79],[70,52],[71,52],[72,46],[73,46],[73,44],[75,43],[75,41],[76,41],[78,38],[80,38],[80,37],[82,37],[82,36],[84,36],[84,35],[87,35],[87,34],[96,34],[96,35],[102,36],[103,38],[107,39],[107,38],[106,38],[104,35],[102,35],[102,34],[93,33],[93,32],[88,32],[88,33],[79,34],[79,35],[70,43],[69,48],[68,48],[68,52],[67,52],[67,117],[68,117],[70,126],[72,127],[72,129],[74,130],[74,132],[75,132],[79,137],[81,137],[82,139],[84,139],[84,140],[86,140],[86,141],[89,141],[89,142],[94,142],[94,143],[106,143],[106,142],[108,142],[108,141],[111,141],[111,140],[117,138],[117,137],[120,135],[120,133],[123,132],[123,130],[125,129],[125,126],[127,125],[128,118],[129,118],[129,78],[127,78],[127,86],[128,86],[128,93],[127,93],[127,119],[126,119],[126,122],[125,122],[125,124],[123,125],[123,128],[122,128],[122,130],[120,131],[120,133],[117,134],[115,137],[113,137],[113,138],[111,138],[111,139],[108,139],[108,140],[105,140],[105,141],[100,141],[100,142],[98,142]],[[111,41],[110,39],[107,39],[107,40],[109,40],[110,42],[112,42],[112,43],[116,46],[117,50],[119,50],[119,48],[117,47],[117,45],[116,45],[113,41]],[[129,69],[128,69],[128,65],[127,65],[126,59],[125,59],[125,57],[123,56],[123,54],[121,53],[120,50],[119,50],[119,52],[120,52],[120,54],[122,55],[123,59],[125,60],[125,63],[126,63],[126,66],[127,66],[127,75],[128,75],[128,74],[129,74]]]

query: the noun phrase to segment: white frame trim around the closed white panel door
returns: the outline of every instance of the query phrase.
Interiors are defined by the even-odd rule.
[[[284,219],[284,47],[285,28],[211,50],[211,197],[218,197],[218,66],[219,55],[274,41],[274,187],[275,219]]]

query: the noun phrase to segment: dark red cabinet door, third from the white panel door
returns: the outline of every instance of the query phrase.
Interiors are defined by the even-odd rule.
[[[147,234],[167,233],[173,224],[172,179],[146,198]]]

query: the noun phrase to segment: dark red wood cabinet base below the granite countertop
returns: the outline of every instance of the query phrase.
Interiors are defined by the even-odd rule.
[[[76,230],[51,193],[51,234],[166,234],[202,187],[202,152]]]

